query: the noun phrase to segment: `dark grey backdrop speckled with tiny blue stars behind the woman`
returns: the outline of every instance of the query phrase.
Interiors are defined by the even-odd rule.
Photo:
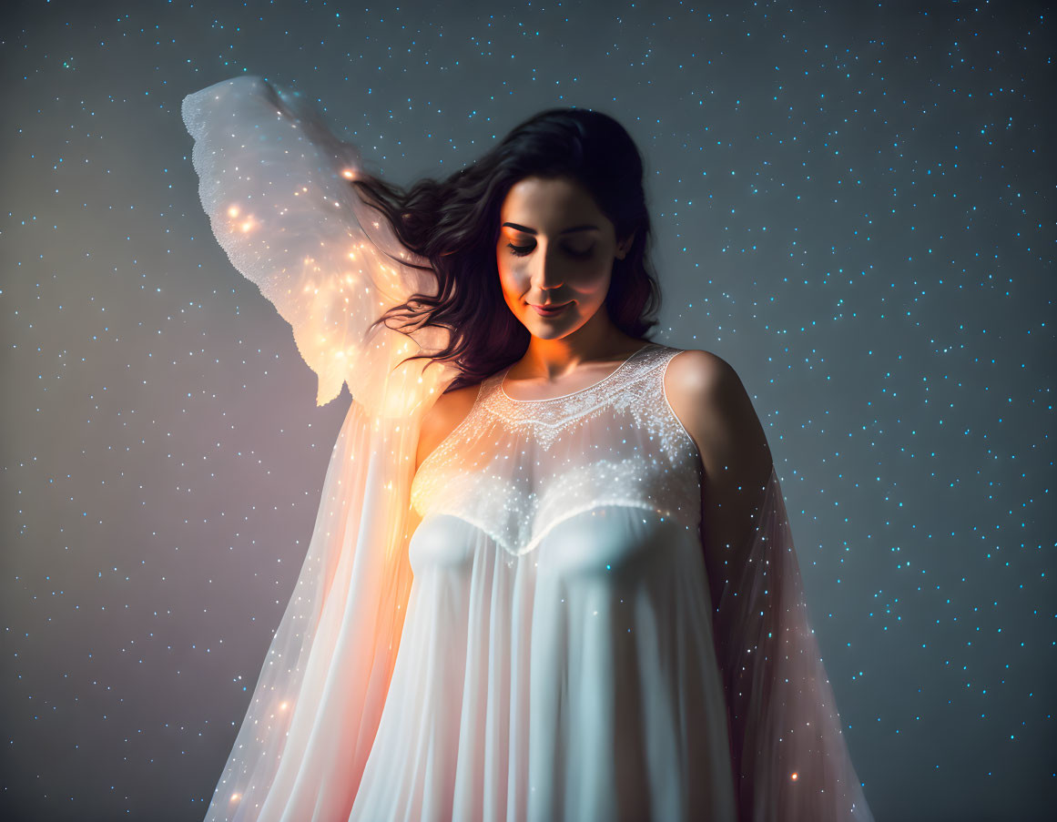
[[[364,3],[0,13],[0,816],[201,819],[308,548],[351,399],[315,406],[180,118],[259,74],[401,184],[542,108],[624,123],[655,338],[753,397],[876,819],[1042,819],[1046,3]]]

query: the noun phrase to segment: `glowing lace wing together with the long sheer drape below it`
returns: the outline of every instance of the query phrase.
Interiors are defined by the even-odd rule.
[[[348,181],[356,149],[297,94],[238,77],[188,95],[202,205],[231,263],[293,326],[316,401],[353,395],[319,512],[206,819],[347,819],[377,731],[410,591],[422,416],[456,376],[447,330],[368,325],[435,286]]]

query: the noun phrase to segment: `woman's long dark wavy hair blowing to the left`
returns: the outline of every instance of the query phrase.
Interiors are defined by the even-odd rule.
[[[481,381],[528,347],[531,333],[503,300],[496,264],[500,209],[511,187],[527,176],[573,180],[613,223],[617,240],[634,231],[628,254],[613,261],[605,309],[632,337],[644,337],[657,323],[661,291],[650,261],[643,160],[634,141],[601,112],[548,109],[444,181],[424,179],[407,190],[372,174],[351,182],[360,199],[389,221],[400,242],[427,258],[437,275],[435,296],[412,295],[375,323],[403,318],[407,322],[390,328],[448,329],[446,348],[409,358],[453,362],[460,375],[448,391]]]

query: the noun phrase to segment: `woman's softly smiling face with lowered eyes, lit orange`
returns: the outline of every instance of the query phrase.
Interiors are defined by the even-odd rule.
[[[563,337],[583,325],[606,300],[617,243],[613,224],[591,194],[567,179],[525,178],[500,210],[496,263],[503,298],[537,337]],[[540,314],[534,305],[560,305]]]

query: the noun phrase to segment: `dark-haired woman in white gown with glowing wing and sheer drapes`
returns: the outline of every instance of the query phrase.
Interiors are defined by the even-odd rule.
[[[208,818],[871,819],[744,388],[645,336],[624,129],[545,111],[405,192],[259,78],[183,114],[354,399]]]

